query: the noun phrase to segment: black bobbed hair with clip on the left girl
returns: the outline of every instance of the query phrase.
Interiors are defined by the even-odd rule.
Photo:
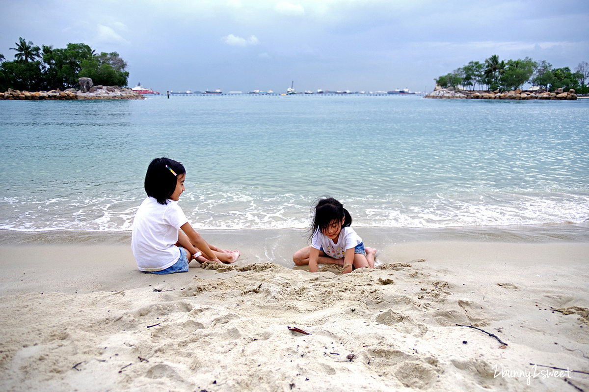
[[[155,158],[145,173],[145,193],[157,200],[158,203],[166,205],[176,190],[180,174],[186,174],[186,169],[180,162],[166,157]]]

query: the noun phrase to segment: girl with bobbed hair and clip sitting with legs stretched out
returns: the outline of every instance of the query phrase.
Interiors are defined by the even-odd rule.
[[[239,257],[239,251],[221,251],[210,245],[190,226],[178,206],[185,179],[184,166],[175,160],[156,158],[147,167],[147,198],[135,213],[131,235],[131,249],[140,271],[188,272],[188,263],[194,259],[232,263]]]

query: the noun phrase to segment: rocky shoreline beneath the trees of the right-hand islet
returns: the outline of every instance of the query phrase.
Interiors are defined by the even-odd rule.
[[[451,88],[436,88],[433,93],[425,95],[424,98],[462,98],[474,100],[576,100],[575,90],[564,92],[562,88],[557,88],[554,93],[546,90],[537,91],[467,91],[452,90]]]

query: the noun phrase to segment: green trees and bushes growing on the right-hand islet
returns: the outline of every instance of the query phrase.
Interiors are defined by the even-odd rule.
[[[525,83],[554,92],[557,88],[567,91],[573,88],[578,94],[589,93],[589,63],[580,62],[574,72],[571,68],[552,68],[547,61],[536,62],[530,57],[523,60],[501,60],[494,54],[484,62],[471,61],[464,67],[434,79],[442,88],[468,89],[479,85],[486,90],[509,91],[521,88]],[[484,89],[485,90],[485,89]]]

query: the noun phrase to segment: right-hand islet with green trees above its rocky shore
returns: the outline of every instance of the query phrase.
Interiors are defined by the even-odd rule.
[[[484,62],[471,61],[464,67],[435,78],[436,90],[426,98],[551,99],[576,100],[588,94],[589,64],[553,68],[546,61],[499,60],[492,55]],[[524,84],[531,84],[522,90]],[[479,90],[475,88],[479,86]]]

